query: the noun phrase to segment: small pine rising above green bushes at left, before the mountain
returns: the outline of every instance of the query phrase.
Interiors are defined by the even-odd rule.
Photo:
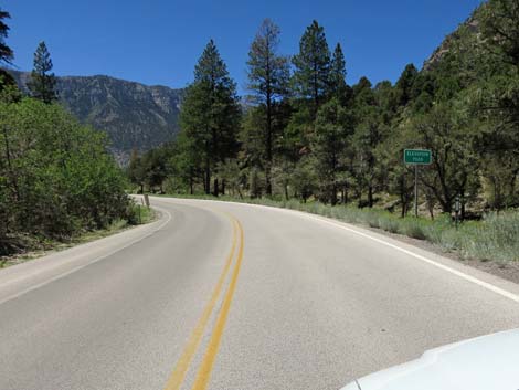
[[[45,42],[40,42],[34,53],[34,68],[28,87],[33,97],[50,104],[57,99],[56,77],[52,71],[52,60]]]

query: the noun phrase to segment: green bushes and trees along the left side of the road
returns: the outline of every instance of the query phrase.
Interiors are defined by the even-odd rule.
[[[6,19],[9,13],[0,10],[0,62],[10,64]],[[107,152],[105,135],[81,125],[56,103],[51,70],[42,42],[34,54],[31,96],[0,73],[0,257],[135,220],[127,179]]]

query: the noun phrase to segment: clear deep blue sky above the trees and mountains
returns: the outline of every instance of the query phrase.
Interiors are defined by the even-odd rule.
[[[32,67],[44,40],[57,75],[110,76],[183,87],[213,38],[240,93],[248,46],[264,18],[282,29],[280,51],[294,54],[316,19],[330,49],[340,42],[348,83],[366,75],[394,82],[424,60],[481,0],[4,0],[8,44],[20,70]]]

